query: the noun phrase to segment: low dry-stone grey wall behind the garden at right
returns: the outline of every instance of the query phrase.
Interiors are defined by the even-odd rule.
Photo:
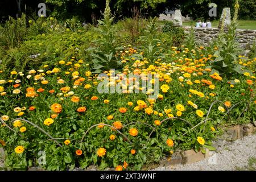
[[[184,27],[185,33],[189,33],[191,27]],[[219,28],[195,27],[195,39],[197,43],[208,45],[211,40],[217,38]],[[226,30],[225,30],[226,31]],[[249,49],[256,39],[256,30],[237,29],[237,39],[243,50]]]

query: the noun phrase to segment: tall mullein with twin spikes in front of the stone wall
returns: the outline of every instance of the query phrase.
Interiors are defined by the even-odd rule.
[[[222,22],[220,34],[216,42],[214,42],[214,46],[217,46],[218,50],[214,53],[213,56],[215,59],[211,62],[212,73],[218,72],[227,78],[235,76],[234,74],[236,73],[245,72],[245,68],[237,63],[238,53],[241,52],[236,39],[238,8],[239,4],[237,0],[235,3],[235,14],[228,28],[228,32],[225,32],[224,22]]]

